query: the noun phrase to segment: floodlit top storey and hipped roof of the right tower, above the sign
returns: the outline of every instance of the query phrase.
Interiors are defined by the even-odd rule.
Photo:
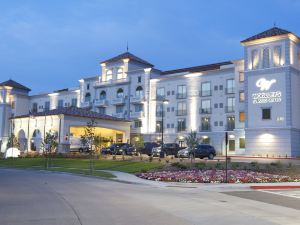
[[[241,41],[245,46],[245,71],[282,66],[299,67],[299,37],[273,27]]]

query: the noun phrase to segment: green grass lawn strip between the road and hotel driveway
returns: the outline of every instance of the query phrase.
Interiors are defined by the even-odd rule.
[[[117,160],[93,160],[95,170],[113,170],[126,173],[147,172],[152,169],[162,168],[162,164],[158,162],[139,162],[139,161],[117,161]],[[15,168],[45,168],[44,158],[17,158],[0,160],[0,167],[15,167]],[[90,161],[89,159],[51,159],[52,171],[62,171],[78,174],[89,174]],[[94,171],[95,176],[113,177],[111,173]]]

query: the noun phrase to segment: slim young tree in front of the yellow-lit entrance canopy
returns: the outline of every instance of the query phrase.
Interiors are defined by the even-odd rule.
[[[95,127],[96,121],[91,119],[87,122],[86,127],[84,128],[84,134],[81,135],[80,141],[83,147],[88,148],[88,152],[90,154],[90,173],[93,173],[93,153],[95,149],[93,149],[94,141],[95,141]]]

